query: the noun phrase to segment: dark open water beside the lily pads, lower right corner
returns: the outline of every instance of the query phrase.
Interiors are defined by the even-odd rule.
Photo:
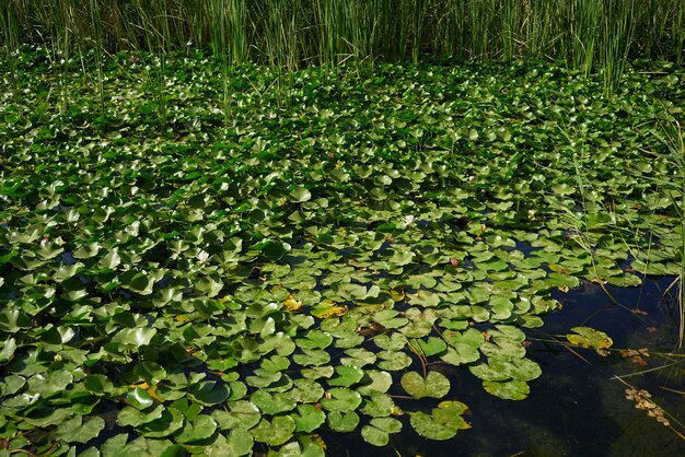
[[[609,296],[596,284],[558,293],[564,304],[545,316],[541,331],[527,331],[530,356],[541,364],[543,375],[531,383],[531,395],[523,401],[506,401],[486,394],[466,370],[439,367],[452,380],[448,399],[458,399],[472,409],[467,421],[473,429],[453,440],[432,442],[419,437],[405,423],[403,433],[391,437],[386,448],[372,447],[360,436],[326,434],[329,456],[683,456],[685,440],[649,418],[626,399],[626,385],[647,389],[652,399],[681,423],[685,422],[684,364],[669,365],[681,358],[658,353],[674,351],[677,320],[674,304],[663,298],[672,279],[646,280],[640,289],[607,286]],[[631,309],[639,309],[635,313]],[[615,349],[647,348],[648,363],[640,366],[617,351],[603,358],[593,350],[566,349],[548,342],[576,326],[589,326],[608,333]],[[419,367],[420,370],[420,367]],[[632,376],[629,376],[632,375]],[[454,398],[453,398],[454,397]],[[396,400],[405,410],[417,410],[416,401]],[[434,407],[426,405],[426,409]],[[405,417],[406,418],[406,417]],[[406,421],[408,422],[408,421]],[[674,422],[674,421],[672,421]],[[683,431],[682,427],[676,430]]]

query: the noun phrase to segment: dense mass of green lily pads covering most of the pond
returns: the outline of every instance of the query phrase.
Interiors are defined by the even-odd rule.
[[[7,452],[449,440],[467,392],[441,366],[525,398],[564,291],[677,269],[678,189],[651,178],[675,169],[652,134],[682,119],[674,69],[606,99],[548,65],[245,65],[223,103],[199,52],[129,57],[105,112],[88,56],[26,49],[21,93],[0,83]]]

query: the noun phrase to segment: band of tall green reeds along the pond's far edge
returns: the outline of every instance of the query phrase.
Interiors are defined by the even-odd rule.
[[[212,48],[229,61],[370,63],[423,54],[547,58],[593,71],[607,84],[626,56],[682,63],[685,0],[4,0],[1,45],[49,42],[68,52],[97,40],[113,52]],[[88,3],[86,3],[88,5]]]

